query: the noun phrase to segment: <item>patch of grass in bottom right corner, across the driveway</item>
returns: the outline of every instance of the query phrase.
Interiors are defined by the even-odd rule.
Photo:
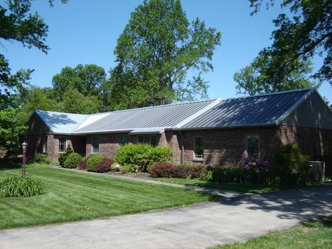
[[[332,248],[332,216],[251,238],[245,243],[221,245],[218,248]]]

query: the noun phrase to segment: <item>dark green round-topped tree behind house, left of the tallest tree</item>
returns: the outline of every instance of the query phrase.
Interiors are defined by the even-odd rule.
[[[75,88],[84,96],[98,96],[106,81],[104,68],[94,64],[77,65],[75,68],[64,67],[60,74],[55,74],[52,79],[53,88],[58,100],[62,100],[68,88]]]

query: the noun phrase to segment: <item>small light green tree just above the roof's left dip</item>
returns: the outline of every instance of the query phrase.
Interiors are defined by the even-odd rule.
[[[69,88],[63,95],[62,112],[92,114],[99,112],[97,96],[84,96],[76,88]]]

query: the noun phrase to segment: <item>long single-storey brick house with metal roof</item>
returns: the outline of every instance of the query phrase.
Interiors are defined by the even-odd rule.
[[[35,111],[27,131],[28,155],[53,161],[69,145],[83,156],[115,156],[120,144],[136,142],[170,146],[174,163],[215,165],[248,156],[273,164],[277,147],[296,142],[331,170],[332,112],[312,88],[91,115]]]

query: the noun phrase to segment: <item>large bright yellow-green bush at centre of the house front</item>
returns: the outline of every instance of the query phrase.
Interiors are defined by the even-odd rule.
[[[150,144],[125,144],[116,150],[116,162],[128,166],[130,172],[146,172],[155,162],[170,160],[172,150],[169,147],[153,147]]]

